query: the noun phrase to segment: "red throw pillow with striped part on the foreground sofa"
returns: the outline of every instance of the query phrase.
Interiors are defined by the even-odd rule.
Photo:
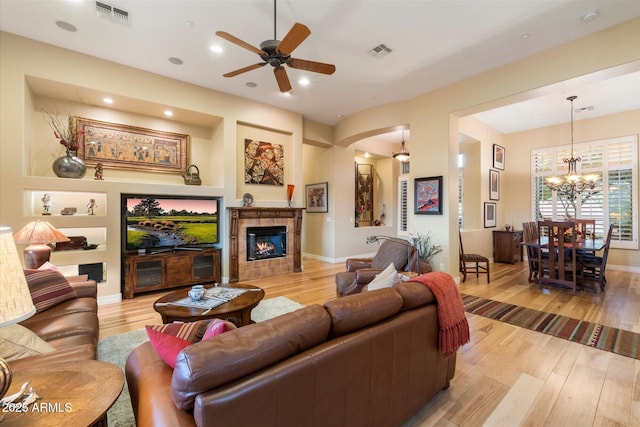
[[[172,368],[176,367],[178,354],[191,344],[211,338],[233,329],[231,322],[220,319],[198,320],[189,323],[168,323],[145,326],[147,336],[158,356]]]

